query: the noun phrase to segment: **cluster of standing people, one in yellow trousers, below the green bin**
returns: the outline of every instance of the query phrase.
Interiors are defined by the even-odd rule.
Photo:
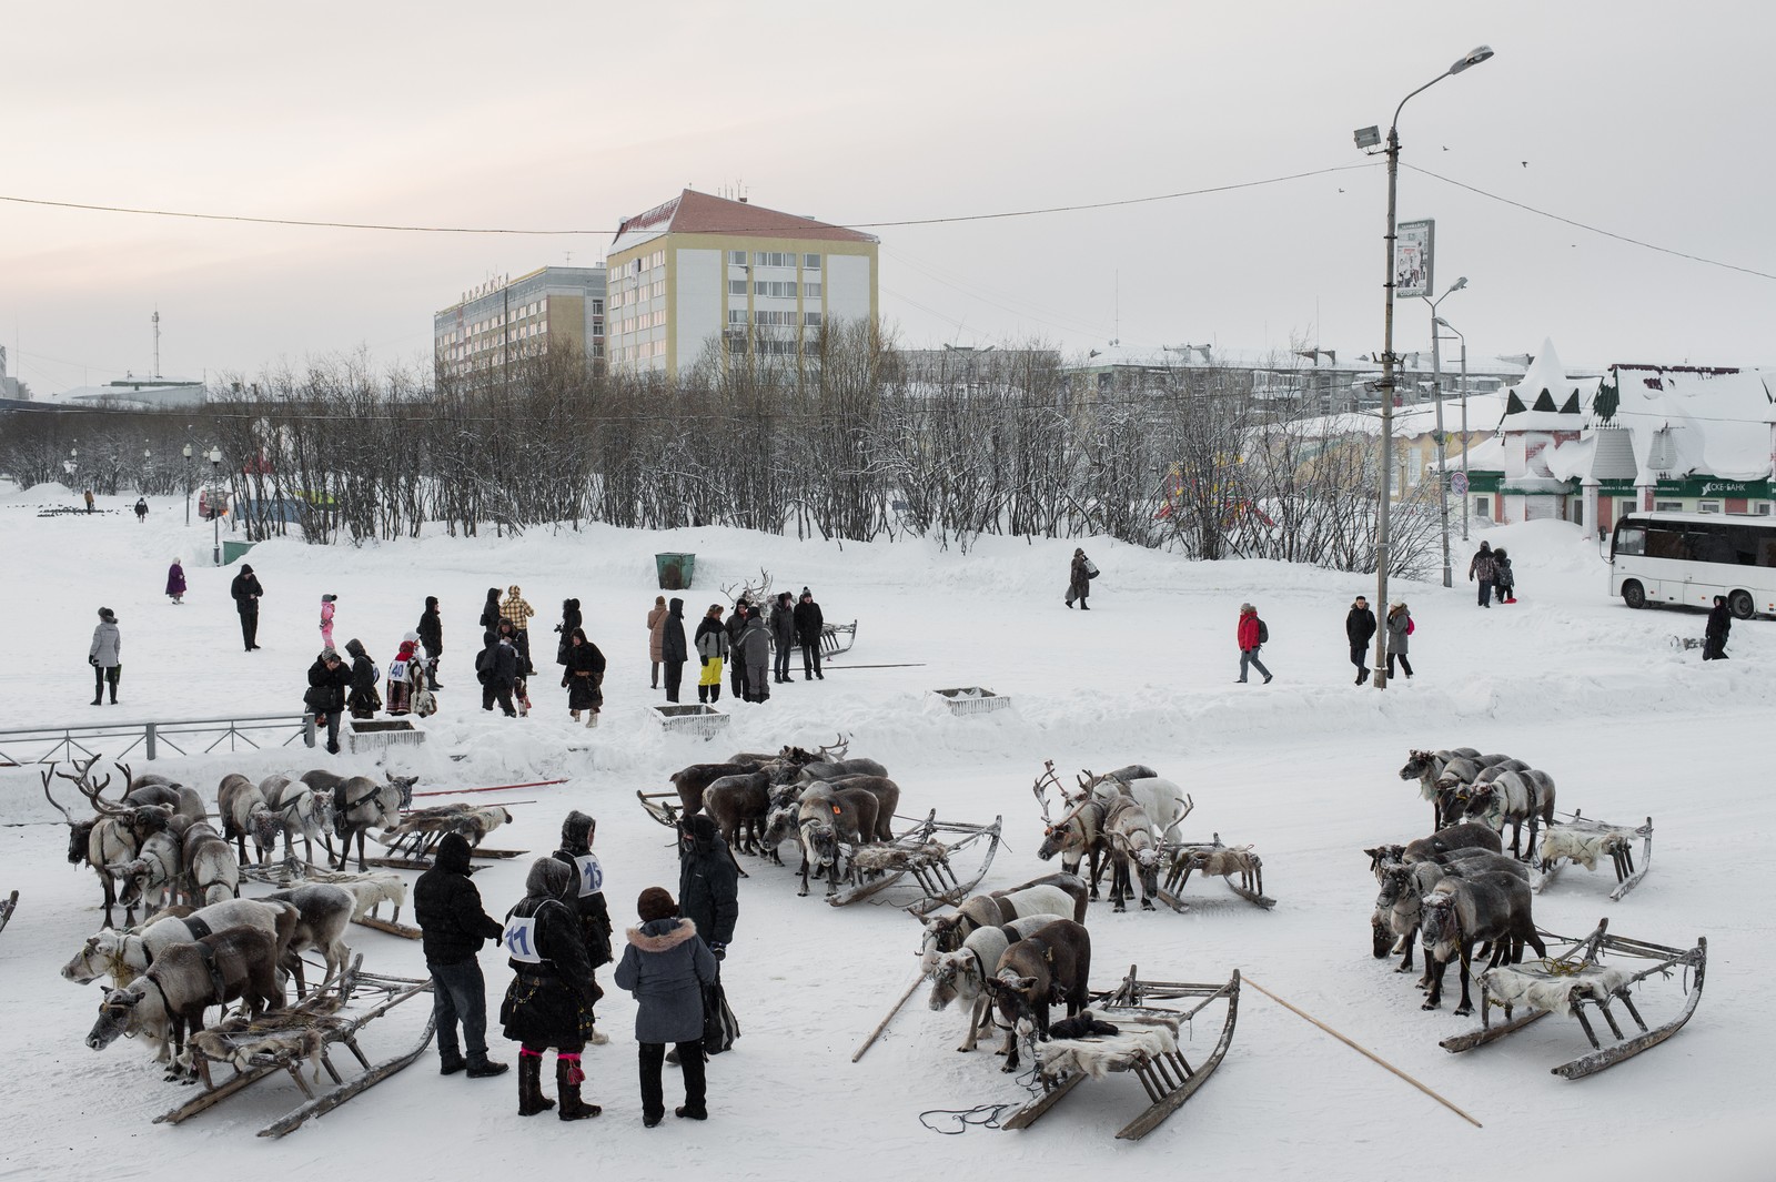
[[[726,619],[723,619],[726,616]],[[652,657],[652,689],[661,689],[661,669],[666,674],[666,701],[678,701],[684,683],[684,666],[696,651],[700,673],[696,699],[721,701],[721,674],[728,669],[728,685],[741,701],[762,703],[771,697],[773,685],[789,685],[790,655],[801,648],[801,676],[805,682],[826,680],[821,669],[821,635],[826,616],[813,600],[813,591],[801,589],[801,600],[789,591],[778,593],[765,609],[744,598],[732,611],[710,603],[696,625],[691,642],[684,635],[684,600],[654,598],[648,611],[648,655]],[[773,658],[773,651],[776,657]],[[769,669],[769,673],[767,673]]]

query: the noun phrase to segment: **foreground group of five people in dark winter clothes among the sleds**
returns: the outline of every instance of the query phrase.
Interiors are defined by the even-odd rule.
[[[586,1120],[604,1111],[583,1095],[584,1049],[609,1042],[595,1019],[604,997],[595,973],[613,962],[604,868],[591,852],[595,832],[591,816],[568,813],[561,848],[531,864],[524,898],[504,923],[483,910],[469,880],[469,845],[458,834],[439,843],[437,861],[414,889],[433,981],[439,1074],[485,1079],[508,1070],[488,1058],[487,987],[476,953],[492,939],[508,957],[513,980],[499,1020],[504,1036],[519,1044],[520,1116],[554,1109],[559,1120]],[[641,1123],[652,1129],[666,1115],[661,1074],[668,1061],[684,1070],[686,1099],[673,1113],[707,1120],[703,1061],[739,1035],[721,992],[721,962],[739,918],[739,879],[733,855],[707,816],[693,816],[680,829],[678,898],[648,887],[636,900],[636,914],[614,981],[638,1001]],[[543,1095],[543,1054],[551,1049],[554,1099]]]

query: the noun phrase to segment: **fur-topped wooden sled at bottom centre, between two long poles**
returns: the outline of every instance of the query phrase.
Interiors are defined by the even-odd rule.
[[[1177,1031],[1222,999],[1227,1001],[1227,1017],[1222,1020],[1220,1038],[1206,1060],[1190,1067],[1177,1045]],[[1193,1001],[1195,1005],[1188,1008],[1156,1005],[1162,1001]],[[1108,1038],[1060,1038],[1035,1044],[1034,1058],[1043,1095],[1012,1113],[1003,1123],[1005,1129],[1028,1129],[1080,1081],[1103,1079],[1108,1072],[1133,1072],[1149,1100],[1135,1120],[1122,1125],[1115,1134],[1117,1139],[1138,1141],[1158,1129],[1167,1116],[1183,1107],[1208,1083],[1227,1056],[1227,1047],[1233,1045],[1233,1028],[1240,1015],[1240,971],[1234,969],[1233,976],[1220,985],[1190,985],[1142,981],[1137,967],[1130,965],[1128,976],[1117,989],[1094,997],[1092,1013],[1124,1028],[1124,1033],[1128,1028],[1135,1028],[1138,1031],[1135,1042],[1146,1044],[1146,1049],[1142,1045],[1115,1045],[1119,1040]]]

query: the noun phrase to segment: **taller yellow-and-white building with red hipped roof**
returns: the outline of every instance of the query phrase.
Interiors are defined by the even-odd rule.
[[[876,319],[876,252],[872,234],[687,188],[611,241],[609,362],[675,376],[712,339],[799,355],[824,325]]]

